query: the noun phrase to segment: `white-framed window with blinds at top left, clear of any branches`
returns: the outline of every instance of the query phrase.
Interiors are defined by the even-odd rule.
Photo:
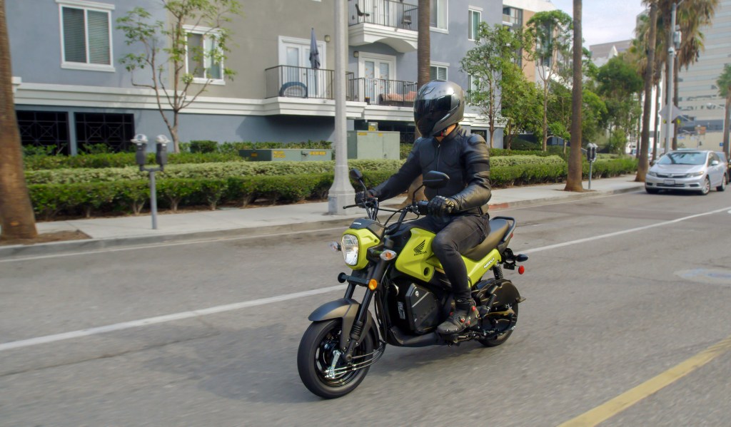
[[[61,17],[61,67],[114,72],[111,4],[56,0]]]

